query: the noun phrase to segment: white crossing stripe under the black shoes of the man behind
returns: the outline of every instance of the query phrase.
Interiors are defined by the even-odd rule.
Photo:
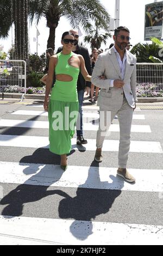
[[[96,150],[96,139],[87,139],[87,144],[77,145],[76,138],[71,140],[72,149],[76,150]],[[0,146],[23,147],[23,148],[49,148],[48,137],[40,136],[16,136],[0,135]],[[119,141],[105,139],[103,151],[118,151]],[[151,141],[131,141],[130,152],[137,153],[163,153],[160,142]]]

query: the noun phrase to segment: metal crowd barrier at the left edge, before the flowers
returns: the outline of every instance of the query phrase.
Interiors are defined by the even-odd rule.
[[[24,60],[0,59],[0,93],[26,94],[26,62]]]

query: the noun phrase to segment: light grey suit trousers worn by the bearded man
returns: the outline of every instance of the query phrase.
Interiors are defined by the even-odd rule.
[[[99,128],[97,131],[96,147],[102,148],[105,136],[108,132],[109,126],[112,123],[115,115],[117,114],[120,124],[120,144],[118,151],[118,167],[126,168],[128,161],[128,153],[130,149],[130,131],[131,122],[133,119],[133,108],[131,108],[123,97],[123,103],[120,109],[116,111],[106,111],[99,107]]]

